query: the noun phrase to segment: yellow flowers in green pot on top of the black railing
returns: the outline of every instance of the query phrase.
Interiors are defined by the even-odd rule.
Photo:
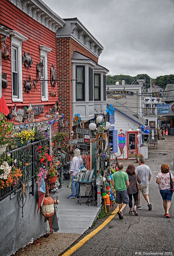
[[[34,139],[34,131],[31,131],[31,129],[22,130],[14,133],[13,137],[16,138],[16,145],[18,147],[26,146],[29,140]]]

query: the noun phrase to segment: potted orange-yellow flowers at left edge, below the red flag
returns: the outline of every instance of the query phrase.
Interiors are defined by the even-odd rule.
[[[6,146],[10,144],[13,124],[6,122],[4,114],[0,114],[0,154],[6,150]]]

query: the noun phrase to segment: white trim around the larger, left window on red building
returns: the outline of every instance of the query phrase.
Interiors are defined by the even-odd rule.
[[[12,92],[12,101],[13,102],[23,102],[23,86],[22,86],[22,42],[26,41],[28,38],[23,36],[18,31],[12,30],[11,33],[11,48],[15,46],[18,48],[18,86],[19,86],[19,97],[14,98]],[[12,59],[12,58],[11,58]],[[11,60],[12,61],[12,60]],[[11,62],[11,72],[12,72],[12,62]],[[13,84],[12,84],[13,88]]]

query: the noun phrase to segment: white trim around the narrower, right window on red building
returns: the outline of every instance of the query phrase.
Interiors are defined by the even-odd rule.
[[[45,62],[44,62],[44,70],[45,70],[45,80],[48,80],[48,61],[47,61],[47,53],[51,52],[51,48],[44,46],[44,45],[39,45],[39,49],[40,49],[40,55],[41,57],[44,58]],[[42,93],[42,92],[41,92]],[[45,97],[42,97],[41,94],[41,100],[42,101],[48,101],[48,82],[45,81]]]

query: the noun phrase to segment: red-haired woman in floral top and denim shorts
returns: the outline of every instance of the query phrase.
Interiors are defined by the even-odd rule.
[[[174,182],[174,177],[171,174],[172,182]],[[171,200],[173,191],[170,189],[170,174],[169,174],[169,166],[168,164],[161,165],[161,172],[159,172],[156,176],[156,183],[159,186],[160,194],[163,200],[163,206],[165,210],[166,218],[170,218],[169,210],[171,206]]]

